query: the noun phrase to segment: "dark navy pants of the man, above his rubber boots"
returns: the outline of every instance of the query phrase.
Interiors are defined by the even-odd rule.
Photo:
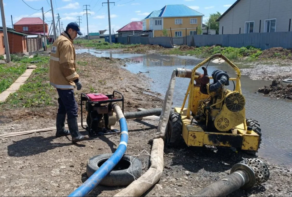
[[[59,103],[59,109],[58,113],[59,114],[66,114],[67,113],[67,118],[75,118],[78,116],[78,106],[75,101],[74,97],[74,90],[73,89],[58,89],[58,103]]]

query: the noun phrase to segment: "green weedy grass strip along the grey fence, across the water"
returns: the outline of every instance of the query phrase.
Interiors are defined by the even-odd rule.
[[[195,55],[197,57],[210,57],[210,55],[216,53],[222,53],[230,60],[238,60],[243,57],[248,57],[245,61],[255,61],[262,54],[260,49],[254,47],[241,47],[241,48],[233,48],[233,47],[199,47],[194,48],[193,50],[185,50],[182,51],[179,48],[165,50],[165,54],[176,54],[176,55]]]

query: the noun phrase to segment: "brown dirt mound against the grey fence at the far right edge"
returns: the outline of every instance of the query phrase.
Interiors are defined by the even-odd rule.
[[[292,59],[292,51],[282,47],[274,47],[264,50],[259,56],[260,59],[276,58],[276,59]]]

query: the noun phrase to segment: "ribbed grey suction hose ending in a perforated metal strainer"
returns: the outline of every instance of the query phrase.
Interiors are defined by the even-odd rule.
[[[227,196],[237,189],[251,189],[266,182],[270,171],[266,164],[258,158],[244,159],[235,164],[231,174],[205,187],[194,196]]]

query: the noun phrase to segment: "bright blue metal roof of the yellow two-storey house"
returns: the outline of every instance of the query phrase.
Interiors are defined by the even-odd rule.
[[[147,18],[153,17],[183,17],[183,16],[204,16],[204,14],[193,10],[183,4],[166,5],[161,10],[154,10]]]

